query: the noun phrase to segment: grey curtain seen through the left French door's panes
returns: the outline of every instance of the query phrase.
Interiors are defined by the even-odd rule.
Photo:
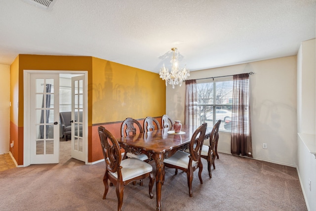
[[[44,88],[44,95],[46,95],[46,100],[43,95],[43,101],[42,101],[42,108],[50,108],[50,93],[51,92],[51,84],[46,84],[46,87]],[[41,110],[41,115],[40,115],[40,123],[44,123],[44,120],[46,120],[46,123],[49,123],[49,109],[46,110],[46,115],[44,115],[44,110]],[[48,125],[46,125],[46,137],[44,137],[44,126],[40,125],[40,139],[47,138],[48,135]]]

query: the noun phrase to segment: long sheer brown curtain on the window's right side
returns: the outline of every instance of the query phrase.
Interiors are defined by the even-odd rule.
[[[231,152],[252,158],[249,74],[234,75],[233,81]]]

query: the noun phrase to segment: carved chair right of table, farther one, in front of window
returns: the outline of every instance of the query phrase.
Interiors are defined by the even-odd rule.
[[[216,156],[215,146],[219,138],[218,130],[219,130],[220,125],[221,125],[221,120],[217,121],[217,123],[215,123],[215,125],[212,128],[212,131],[209,137],[209,145],[202,146],[201,158],[204,158],[207,161],[207,169],[208,169],[209,178],[212,178],[211,166],[213,165],[213,168],[215,169],[215,163],[214,163],[215,156]]]

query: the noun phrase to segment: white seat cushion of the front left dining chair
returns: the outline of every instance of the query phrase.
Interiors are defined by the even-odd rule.
[[[122,167],[121,173],[123,181],[134,178],[136,176],[140,176],[142,174],[153,171],[152,165],[141,161],[137,158],[127,158],[120,162],[120,166]],[[118,178],[118,173],[112,173],[116,178]]]

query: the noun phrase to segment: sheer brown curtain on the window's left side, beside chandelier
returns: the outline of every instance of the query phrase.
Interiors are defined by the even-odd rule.
[[[186,96],[185,96],[185,124],[194,126],[195,124],[195,109],[197,109],[197,80],[186,81]]]

